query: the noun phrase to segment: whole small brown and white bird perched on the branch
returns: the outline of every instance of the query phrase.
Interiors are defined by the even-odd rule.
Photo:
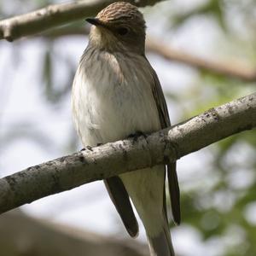
[[[143,14],[115,2],[86,19],[89,43],[73,79],[73,121],[84,147],[111,143],[171,125],[160,80],[145,56]],[[104,180],[131,237],[143,222],[151,256],[174,256],[166,210],[166,177],[172,218],[180,223],[176,163],[126,172]]]

